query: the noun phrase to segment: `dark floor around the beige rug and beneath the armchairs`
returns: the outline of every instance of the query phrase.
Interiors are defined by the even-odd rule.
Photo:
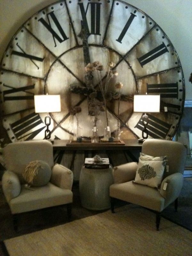
[[[90,211],[81,207],[78,184],[74,184],[73,193],[73,220],[79,220],[100,213],[100,211]],[[120,203],[118,206],[120,205],[124,204]],[[172,204],[164,210],[163,216],[192,231],[192,178],[184,178],[184,185],[179,197],[178,212],[174,212],[174,204]],[[11,212],[3,196],[2,187],[0,186],[0,241],[58,226],[66,222],[67,212],[65,206],[44,209],[37,212],[27,212],[20,215],[19,232],[15,233],[12,227]],[[0,255],[4,255],[1,248]]]

